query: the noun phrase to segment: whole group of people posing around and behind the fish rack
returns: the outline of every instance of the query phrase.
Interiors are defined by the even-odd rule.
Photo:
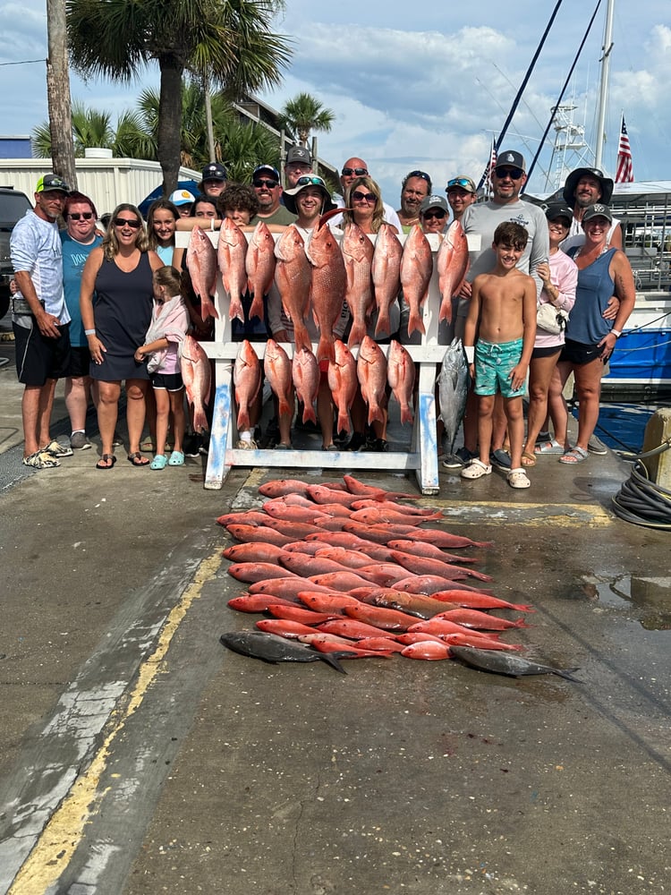
[[[352,157],[344,163],[342,196],[335,200],[312,167],[309,150],[292,147],[283,187],[275,166],[261,164],[250,184],[239,184],[228,183],[225,167],[211,162],[203,169],[199,195],[178,190],[169,199],[153,202],[146,225],[139,209],[124,203],[115,209],[106,232],[98,229],[92,200],[71,192],[57,175],[40,178],[35,209],[17,224],[12,238],[19,290],[14,295],[13,328],[17,371],[25,385],[26,465],[58,465],[61,457],[72,455],[72,448],[91,447],[85,418],[92,398],[102,442],[97,466],[111,469],[120,443],[116,422],[122,382],[129,461],[153,469],[183,464],[186,420],[179,345],[190,329],[199,339],[211,339],[213,321],[203,320],[199,297],[189,288],[185,250],[175,248],[175,233],[196,224],[217,229],[228,217],[248,229],[263,221],[276,233],[293,224],[307,242],[327,211],[335,212],[329,226],[336,232],[354,222],[371,235],[378,234],[383,223],[398,234],[410,233],[415,225],[426,234],[444,234],[459,220],[466,234],[480,236],[480,249],[470,252],[469,274],[454,296],[450,333],[463,338],[475,386],[463,422],[463,447],[447,456],[444,465],[463,467],[464,479],[476,479],[490,473],[494,463],[506,469],[514,488],[526,488],[531,483],[527,469],[539,454],[559,454],[565,464],[588,456],[603,363],[634,300],[631,268],[620,251],[621,230],[607,206],[612,181],[597,169],[578,169],[567,178],[565,201],[543,210],[520,199],[526,181],[524,158],[509,150],[498,156],[488,201],[477,201],[476,185],[466,175],[452,178],[445,197],[439,195],[429,174],[418,169],[403,178],[400,208],[395,210],[382,199],[363,159]],[[338,207],[342,212],[337,213]],[[556,309],[558,324],[543,329],[542,322],[552,318],[547,308],[539,311],[547,304]],[[275,287],[264,296],[262,320],[250,319],[250,305],[247,296],[245,320],[234,321],[234,338],[292,340],[293,321]],[[378,335],[378,341],[402,336],[402,308],[401,299],[395,303],[389,331]],[[349,325],[344,305],[335,337],[346,337]],[[370,335],[374,329],[375,320]],[[527,371],[525,436],[522,394]],[[571,371],[580,403],[573,447],[567,439],[562,396]],[[69,447],[52,439],[49,431],[60,377],[66,377],[72,422]],[[142,434],[148,408],[149,447],[155,454],[151,461],[142,453],[147,448]],[[259,402],[251,410],[251,429],[239,433],[238,447],[256,447]],[[318,413],[322,447],[335,449],[338,433],[324,364]],[[554,437],[548,432],[548,413]],[[352,406],[352,422],[351,449],[386,449],[386,420],[374,422],[367,431],[361,399]],[[277,447],[291,445],[292,424],[286,413],[276,420]]]

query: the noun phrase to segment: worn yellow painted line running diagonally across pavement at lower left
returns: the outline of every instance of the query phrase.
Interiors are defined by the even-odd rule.
[[[184,590],[182,598],[166,618],[166,623],[158,635],[156,649],[140,666],[138,682],[130,700],[123,711],[115,712],[114,728],[108,733],[97,754],[93,756],[87,771],[74,781],[68,796],[52,814],[7,895],[36,895],[36,892],[47,891],[63,874],[80,844],[90,815],[95,813],[104,795],[98,792],[98,786],[102,774],[106,771],[107,760],[116,737],[123,730],[126,720],[140,708],[149,687],[161,670],[161,664],[183,618],[193,601],[200,598],[203,585],[217,575],[221,562],[221,550],[217,550],[214,556],[200,563],[192,584]]]

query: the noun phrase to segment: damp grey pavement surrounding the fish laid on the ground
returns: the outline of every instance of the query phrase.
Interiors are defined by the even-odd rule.
[[[152,473],[118,448],[98,472],[97,436],[33,473],[20,402],[10,363],[0,892],[668,891],[668,536],[611,514],[622,460],[542,457],[522,492],[443,470],[422,499],[450,531],[493,541],[471,550],[478,568],[536,609],[503,639],[581,683],[396,656],[342,676],[218,642],[257,617],[226,606],[243,588],[216,517],[258,506],[270,478],[335,474],[235,469],[204,490],[203,459]]]

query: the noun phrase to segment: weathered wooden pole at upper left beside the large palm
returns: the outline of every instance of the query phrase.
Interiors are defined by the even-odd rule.
[[[47,47],[47,105],[52,165],[54,173],[63,177],[71,190],[76,190],[65,0],[47,0]]]

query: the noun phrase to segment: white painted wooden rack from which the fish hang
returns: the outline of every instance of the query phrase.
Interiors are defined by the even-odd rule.
[[[186,247],[189,242],[188,233],[177,233],[176,244]],[[215,247],[219,234],[208,236]],[[248,241],[251,233],[246,234]],[[278,234],[275,234],[278,238]],[[375,240],[375,237],[372,237]],[[429,234],[429,243],[436,256],[438,241],[435,234]],[[404,235],[399,234],[404,242]],[[479,246],[471,244],[469,248]],[[215,341],[202,342],[201,345],[208,357],[215,361],[215,400],[210,432],[208,468],[205,475],[205,488],[220,489],[226,476],[234,466],[266,466],[296,469],[376,469],[392,472],[414,471],[422,494],[437,494],[440,485],[438,480],[437,434],[436,434],[436,378],[437,364],[443,361],[446,345],[438,345],[438,311],[440,308],[440,290],[437,283],[437,269],[434,264],[433,275],[429,284],[429,297],[424,303],[423,321],[426,335],[421,345],[405,345],[412,360],[420,365],[417,406],[413,407],[414,423],[409,451],[322,451],[322,450],[241,450],[234,447],[235,413],[233,404],[233,370],[235,358],[240,348],[239,342],[231,340],[231,321],[228,320],[228,299],[225,294],[221,276],[217,275],[217,292],[215,306],[219,319],[215,321]],[[293,345],[281,343],[290,358],[293,357]],[[266,345],[263,342],[252,342],[252,347],[262,359]],[[382,351],[388,353],[388,345],[380,345]],[[313,345],[316,350],[317,344]],[[354,357],[358,348],[352,350]]]

